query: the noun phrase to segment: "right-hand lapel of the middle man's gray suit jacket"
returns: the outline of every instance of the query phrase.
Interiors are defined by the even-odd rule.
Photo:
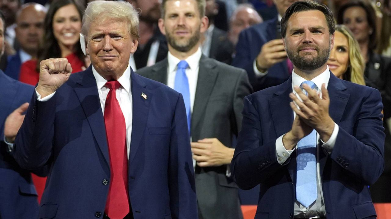
[[[193,113],[191,117],[191,135],[193,140],[197,140],[197,136],[193,136],[197,129],[201,119],[204,117],[204,111],[209,97],[215,86],[217,75],[219,72],[216,69],[216,64],[212,59],[201,56],[199,60],[199,71],[197,79],[197,88],[195,90]]]

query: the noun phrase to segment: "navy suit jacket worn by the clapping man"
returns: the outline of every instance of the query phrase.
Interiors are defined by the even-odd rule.
[[[231,173],[242,189],[260,184],[256,219],[292,218],[296,150],[283,164],[276,159],[276,139],[290,131],[292,79],[244,99],[242,131]],[[339,125],[330,155],[319,150],[327,219],[375,218],[368,185],[384,169],[382,99],[377,89],[336,78],[328,83],[330,117]]]

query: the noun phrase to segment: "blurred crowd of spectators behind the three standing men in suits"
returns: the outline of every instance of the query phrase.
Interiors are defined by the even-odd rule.
[[[140,12],[140,41],[130,59],[137,71],[167,57],[165,36],[157,27],[160,0],[127,0]],[[201,37],[204,55],[247,71],[254,91],[289,78],[280,20],[296,0],[206,0],[209,26]],[[90,65],[79,43],[89,0],[0,0],[5,15],[5,53],[0,69],[36,85],[39,62],[68,58],[74,72]],[[391,202],[391,0],[320,0],[337,21],[329,69],[339,78],[377,88],[384,103],[385,170],[370,187],[374,202]],[[222,103],[223,104],[223,103]],[[40,195],[45,178],[33,176]]]

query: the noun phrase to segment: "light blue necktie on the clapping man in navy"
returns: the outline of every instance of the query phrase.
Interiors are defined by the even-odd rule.
[[[312,81],[304,81],[314,89]],[[306,95],[307,92],[305,92]],[[303,206],[309,207],[317,198],[316,191],[316,131],[302,138],[297,143],[297,172],[296,172],[296,200]]]

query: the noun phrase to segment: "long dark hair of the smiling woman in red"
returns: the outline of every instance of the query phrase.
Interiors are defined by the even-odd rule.
[[[74,0],[54,0],[52,4],[50,4],[49,10],[45,16],[45,35],[43,35],[43,41],[41,42],[41,45],[38,49],[38,62],[36,66],[37,71],[39,71],[39,63],[42,60],[48,58],[61,58],[61,49],[53,34],[53,17],[58,9],[69,4],[75,5],[77,12],[79,12],[80,15],[80,22],[83,18],[84,8],[83,6],[74,2]],[[81,45],[79,42],[76,43],[75,54],[77,55],[77,57],[79,57],[81,61],[84,62],[84,53],[83,50],[81,50]]]

